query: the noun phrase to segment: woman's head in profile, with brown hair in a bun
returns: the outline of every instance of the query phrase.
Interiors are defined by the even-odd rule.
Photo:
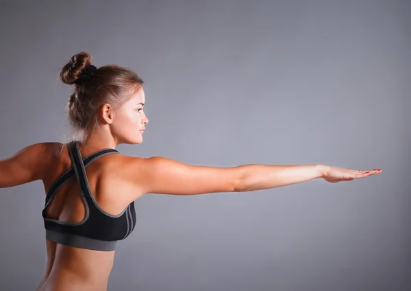
[[[74,85],[66,107],[73,135],[90,139],[98,131],[117,144],[141,143],[140,130],[148,123],[142,110],[144,82],[124,67],[105,65],[96,69],[91,65],[92,56],[81,52],[60,71],[62,82]]]

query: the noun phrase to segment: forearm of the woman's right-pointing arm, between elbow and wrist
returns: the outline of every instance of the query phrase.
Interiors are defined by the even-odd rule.
[[[241,187],[253,191],[292,185],[321,178],[325,165],[240,165]]]

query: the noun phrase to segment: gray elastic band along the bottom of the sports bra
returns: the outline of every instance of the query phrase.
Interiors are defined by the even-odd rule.
[[[46,229],[46,239],[66,246],[76,246],[77,248],[88,248],[95,251],[114,251],[116,249],[116,240],[96,240],[90,237],[60,233]]]

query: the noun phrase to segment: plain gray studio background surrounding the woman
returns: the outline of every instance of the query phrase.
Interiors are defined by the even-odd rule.
[[[321,163],[383,174],[264,191],[147,195],[109,290],[411,290],[410,1],[1,1],[0,156],[66,141],[88,51],[145,80],[134,156]],[[408,165],[407,165],[408,163]],[[0,289],[45,268],[41,181],[0,190]]]

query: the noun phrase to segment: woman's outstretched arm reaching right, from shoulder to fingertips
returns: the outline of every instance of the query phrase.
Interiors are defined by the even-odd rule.
[[[351,181],[377,172],[329,167],[326,165],[239,165],[237,167],[205,167],[187,165],[154,156],[134,158],[125,167],[127,180],[141,194],[196,195],[216,192],[241,192],[269,189],[325,178],[329,182]]]

